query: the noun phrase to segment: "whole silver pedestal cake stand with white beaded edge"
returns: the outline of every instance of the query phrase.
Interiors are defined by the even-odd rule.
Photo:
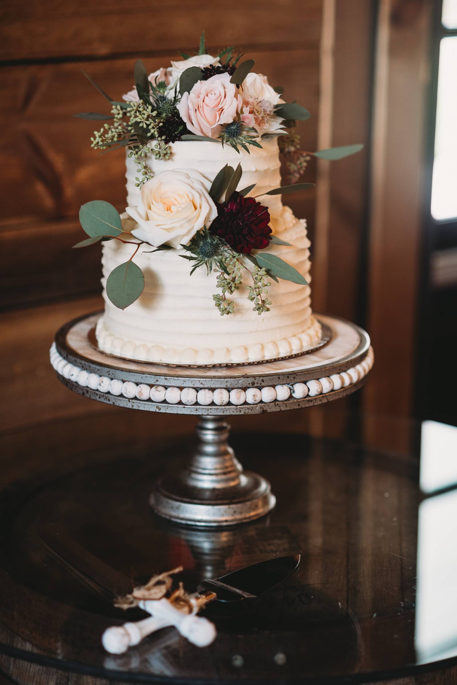
[[[233,525],[267,514],[270,483],[243,471],[229,447],[229,414],[279,412],[354,393],[373,364],[358,326],[318,314],[328,342],[300,356],[257,364],[190,367],[129,361],[96,348],[100,312],[57,332],[51,364],[67,388],[131,409],[196,414],[198,447],[181,473],[164,475],[151,495],[157,514],[197,526]]]

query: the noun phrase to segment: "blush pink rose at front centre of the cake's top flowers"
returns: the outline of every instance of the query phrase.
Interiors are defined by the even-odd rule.
[[[235,119],[241,107],[241,95],[229,74],[216,74],[207,81],[196,82],[178,105],[187,128],[198,136],[217,138],[220,125]]]

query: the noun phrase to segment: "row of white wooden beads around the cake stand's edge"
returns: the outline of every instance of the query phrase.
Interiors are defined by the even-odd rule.
[[[363,362],[356,364],[356,366],[348,369],[348,371],[335,373],[330,377],[313,379],[306,381],[306,383],[248,388],[247,390],[233,388],[230,391],[225,388],[216,388],[216,390],[201,388],[196,390],[195,388],[177,388],[175,386],[169,386],[168,388],[163,386],[151,387],[146,383],[137,385],[133,381],[122,382],[122,380],[117,378],[111,379],[106,376],[99,376],[96,373],[89,373],[80,369],[79,366],[74,366],[67,362],[57,352],[55,343],[51,346],[49,358],[53,369],[57,373],[77,383],[82,388],[88,387],[91,390],[99,390],[101,393],[111,393],[111,395],[124,395],[127,399],[136,397],[142,401],[151,400],[153,402],[181,404],[184,406],[216,404],[216,406],[222,407],[229,403],[234,406],[240,406],[245,403],[259,404],[261,402],[270,403],[275,400],[285,401],[289,397],[304,399],[306,396],[316,397],[316,395],[331,393],[332,390],[340,390],[357,383],[367,375],[374,363],[374,352],[373,348],[370,347]]]

